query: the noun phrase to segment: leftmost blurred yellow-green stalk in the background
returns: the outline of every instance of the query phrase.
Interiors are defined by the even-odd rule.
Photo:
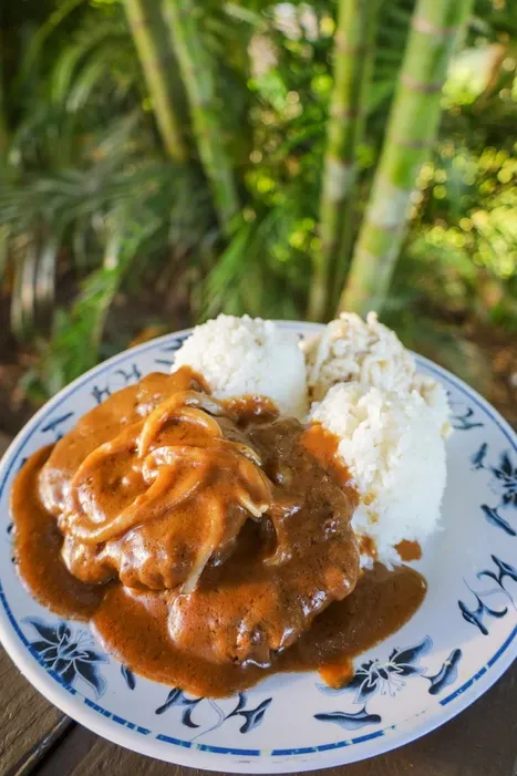
[[[165,148],[170,158],[184,162],[188,149],[174,106],[174,55],[159,2],[124,0],[124,8]]]

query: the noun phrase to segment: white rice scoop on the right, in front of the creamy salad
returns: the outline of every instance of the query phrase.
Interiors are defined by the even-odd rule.
[[[352,525],[373,539],[386,565],[400,562],[400,541],[422,542],[435,530],[445,488],[447,400],[434,381],[417,382],[420,390],[403,393],[341,383],[310,412],[340,438],[338,454],[361,499]],[[361,562],[371,561],[363,556]]]

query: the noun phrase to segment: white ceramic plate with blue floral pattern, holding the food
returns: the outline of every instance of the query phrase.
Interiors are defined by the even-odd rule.
[[[307,335],[314,324],[283,323]],[[192,697],[133,675],[103,653],[84,623],[39,606],[11,562],[9,490],[31,453],[70,431],[111,392],[168,371],[188,332],[134,348],[50,401],[14,439],[0,469],[0,635],[30,682],[95,733],[172,763],[281,773],[353,763],[443,724],[484,693],[517,654],[517,441],[472,389],[418,358],[449,392],[443,530],[425,548],[422,608],[355,660],[341,691],[318,674],[281,674],[240,696]]]

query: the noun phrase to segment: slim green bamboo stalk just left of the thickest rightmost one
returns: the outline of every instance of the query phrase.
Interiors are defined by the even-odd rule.
[[[330,101],[327,154],[320,201],[319,252],[309,300],[309,318],[328,308],[332,268],[338,282],[350,249],[349,211],[356,177],[356,147],[364,126],[364,103],[373,70],[373,39],[380,0],[340,0],[334,39],[334,85]],[[335,303],[335,302],[334,302]]]

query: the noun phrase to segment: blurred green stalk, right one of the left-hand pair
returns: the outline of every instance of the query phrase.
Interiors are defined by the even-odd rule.
[[[164,0],[164,7],[187,93],[199,157],[211,186],[220,224],[227,229],[239,209],[239,197],[219,121],[224,105],[217,97],[213,63],[199,30],[203,6],[195,0]]]

